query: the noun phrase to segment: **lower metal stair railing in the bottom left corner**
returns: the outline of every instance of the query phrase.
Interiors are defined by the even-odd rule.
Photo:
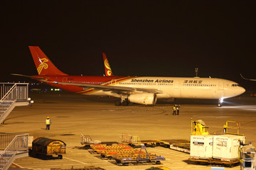
[[[0,170],[5,170],[18,152],[28,152],[28,134],[0,133],[0,149]]]

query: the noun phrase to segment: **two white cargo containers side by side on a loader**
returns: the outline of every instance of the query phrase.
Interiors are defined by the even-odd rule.
[[[245,144],[245,136],[228,132],[220,135],[209,135],[205,128],[202,128],[204,132],[201,134],[196,123],[191,124],[189,160],[209,164],[226,164],[229,166],[239,164],[240,144]]]

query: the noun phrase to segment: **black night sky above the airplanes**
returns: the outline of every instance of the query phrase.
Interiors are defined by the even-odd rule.
[[[1,1],[0,80],[37,74],[36,45],[70,75],[217,77],[255,87],[254,1]]]

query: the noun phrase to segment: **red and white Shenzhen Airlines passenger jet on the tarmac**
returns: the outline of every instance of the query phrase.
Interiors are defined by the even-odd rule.
[[[72,76],[55,67],[38,46],[29,46],[29,49],[38,75],[13,75],[36,79],[77,94],[120,98],[115,102],[116,106],[127,106],[129,103],[154,105],[157,98],[204,98],[218,99],[220,107],[224,98],[245,92],[234,81],[217,78]]]

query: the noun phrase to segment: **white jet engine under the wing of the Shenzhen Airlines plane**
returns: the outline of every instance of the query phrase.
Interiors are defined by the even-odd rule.
[[[129,102],[139,103],[144,105],[156,104],[156,94],[143,93],[143,94],[130,94],[128,96]]]

